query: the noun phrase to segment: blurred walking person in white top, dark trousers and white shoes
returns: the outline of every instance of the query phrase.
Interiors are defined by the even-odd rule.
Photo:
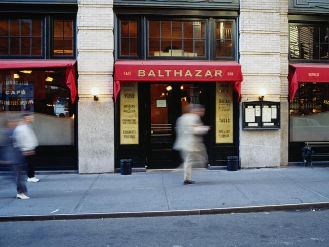
[[[27,182],[39,181],[34,176],[33,155],[35,154],[35,148],[38,146],[38,141],[31,126],[33,121],[33,115],[23,113],[22,120],[14,131],[15,145],[21,150],[28,163]]]

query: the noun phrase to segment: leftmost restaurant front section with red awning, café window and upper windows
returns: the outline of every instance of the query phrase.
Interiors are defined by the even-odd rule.
[[[76,170],[77,5],[0,4],[1,128],[8,118],[33,114],[36,169]]]

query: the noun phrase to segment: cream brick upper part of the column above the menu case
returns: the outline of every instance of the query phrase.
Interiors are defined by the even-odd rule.
[[[242,101],[257,99],[259,88],[280,101],[287,95],[287,1],[241,0],[240,7]]]

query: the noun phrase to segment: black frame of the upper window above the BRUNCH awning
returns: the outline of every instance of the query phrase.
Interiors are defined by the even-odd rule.
[[[290,30],[291,30],[291,26],[298,26],[298,27],[325,27],[328,29],[328,33],[329,33],[329,22],[325,22],[325,23],[318,23],[318,22],[290,22],[289,23],[289,36],[288,36],[288,60],[290,62],[294,62],[294,63],[329,63],[329,56],[327,59],[301,59],[300,55],[299,55],[299,59],[295,59],[295,58],[291,58],[291,40],[290,40]],[[299,47],[299,51],[301,51],[300,49],[300,44],[301,42],[298,42],[298,47]],[[310,37],[308,40],[308,44],[322,44],[322,43],[311,43],[310,42]],[[329,51],[329,42],[327,43],[328,46],[328,51]]]

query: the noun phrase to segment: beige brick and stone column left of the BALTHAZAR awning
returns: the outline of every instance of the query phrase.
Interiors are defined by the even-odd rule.
[[[112,0],[78,0],[79,173],[114,171],[113,25]]]

